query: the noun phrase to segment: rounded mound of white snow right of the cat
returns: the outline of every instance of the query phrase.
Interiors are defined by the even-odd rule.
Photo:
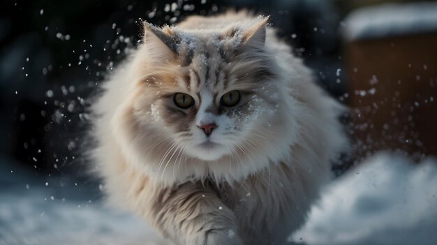
[[[378,154],[327,188],[304,244],[437,244],[437,161]]]

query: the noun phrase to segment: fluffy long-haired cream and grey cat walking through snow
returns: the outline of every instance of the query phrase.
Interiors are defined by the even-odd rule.
[[[177,244],[281,244],[345,146],[342,107],[268,17],[144,24],[93,107],[112,202]]]

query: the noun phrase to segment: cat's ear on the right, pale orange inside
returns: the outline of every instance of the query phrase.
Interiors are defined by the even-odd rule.
[[[259,49],[265,45],[266,27],[269,16],[258,17],[251,27],[243,31],[243,48]]]

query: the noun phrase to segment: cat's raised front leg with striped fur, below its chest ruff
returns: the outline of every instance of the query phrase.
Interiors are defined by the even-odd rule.
[[[186,183],[157,191],[154,225],[184,245],[242,245],[235,215],[207,184]]]

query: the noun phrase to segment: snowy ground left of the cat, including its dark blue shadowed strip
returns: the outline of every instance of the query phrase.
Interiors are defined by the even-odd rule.
[[[0,155],[0,245],[170,245],[142,219],[92,201],[90,189]]]

